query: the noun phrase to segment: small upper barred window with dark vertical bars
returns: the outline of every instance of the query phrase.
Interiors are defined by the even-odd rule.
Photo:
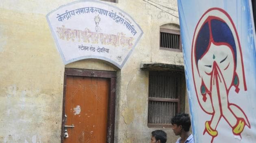
[[[182,52],[180,31],[160,28],[160,49]]]

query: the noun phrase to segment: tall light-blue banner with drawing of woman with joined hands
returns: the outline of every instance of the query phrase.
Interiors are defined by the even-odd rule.
[[[178,0],[195,143],[256,142],[251,0]]]

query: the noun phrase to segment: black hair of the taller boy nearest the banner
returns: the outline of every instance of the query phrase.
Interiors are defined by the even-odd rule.
[[[189,128],[191,126],[191,121],[190,121],[190,117],[189,114],[185,114],[185,113],[179,113],[176,116],[174,116],[171,119],[171,124],[174,125],[178,125],[178,126],[182,126],[182,128],[184,129],[185,132],[189,131]]]

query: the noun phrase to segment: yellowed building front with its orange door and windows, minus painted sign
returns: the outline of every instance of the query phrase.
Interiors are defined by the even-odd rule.
[[[189,112],[176,0],[91,1],[124,11],[142,30],[121,67],[98,58],[63,62],[46,15],[72,2],[0,3],[0,142],[90,142],[98,134],[102,142],[146,143],[156,129],[176,141],[170,119]],[[75,137],[78,116],[88,128]]]

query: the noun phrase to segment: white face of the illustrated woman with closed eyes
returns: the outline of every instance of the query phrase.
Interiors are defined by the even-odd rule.
[[[225,82],[226,88],[232,85],[235,62],[231,49],[228,44],[215,45],[211,42],[208,51],[198,60],[198,71],[208,89],[210,89],[210,84],[213,84],[211,83],[212,76],[216,74],[222,76],[219,77],[220,79],[225,77],[223,82]],[[222,81],[220,80],[220,82]]]

